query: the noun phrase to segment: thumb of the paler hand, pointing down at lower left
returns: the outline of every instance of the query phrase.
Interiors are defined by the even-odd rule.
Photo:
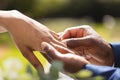
[[[19,47],[23,56],[37,69],[44,71],[43,65],[39,62],[39,60],[34,55],[33,51],[27,47]]]

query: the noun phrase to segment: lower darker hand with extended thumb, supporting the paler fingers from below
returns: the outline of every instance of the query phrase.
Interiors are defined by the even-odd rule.
[[[46,42],[43,42],[41,46],[43,50],[48,53],[52,59],[62,61],[64,64],[64,69],[68,72],[76,72],[88,63],[88,61],[81,56],[70,53],[61,54],[53,46]],[[72,66],[73,69],[69,66]]]

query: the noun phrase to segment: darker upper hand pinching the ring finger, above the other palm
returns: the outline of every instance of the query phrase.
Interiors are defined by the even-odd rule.
[[[83,56],[89,63],[113,65],[113,51],[110,44],[90,26],[68,28],[62,33],[61,38],[68,48]]]

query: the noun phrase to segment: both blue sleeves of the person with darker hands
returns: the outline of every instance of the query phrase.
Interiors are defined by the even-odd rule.
[[[101,75],[105,80],[120,80],[120,43],[111,43],[114,53],[114,66],[96,66],[87,64],[84,69],[93,72],[93,76]]]

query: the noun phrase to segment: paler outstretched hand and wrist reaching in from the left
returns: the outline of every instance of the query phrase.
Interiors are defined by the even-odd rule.
[[[58,35],[44,25],[23,15],[18,11],[0,11],[0,26],[4,27],[16,43],[23,56],[36,68],[42,69],[42,64],[33,54],[40,51],[43,41],[48,43],[60,43]]]

